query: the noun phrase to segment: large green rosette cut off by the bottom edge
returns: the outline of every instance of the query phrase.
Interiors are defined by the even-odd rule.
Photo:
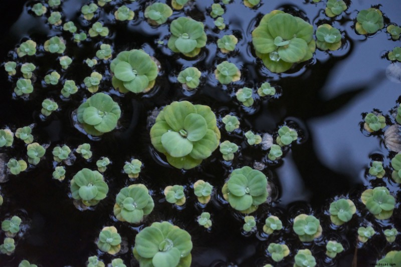
[[[132,250],[140,266],[189,267],[191,236],[167,221],[153,222],[135,236]]]

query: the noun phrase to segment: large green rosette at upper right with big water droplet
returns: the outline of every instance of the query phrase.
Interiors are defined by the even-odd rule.
[[[312,25],[279,10],[262,18],[252,32],[252,42],[256,55],[275,73],[311,59],[316,49]]]

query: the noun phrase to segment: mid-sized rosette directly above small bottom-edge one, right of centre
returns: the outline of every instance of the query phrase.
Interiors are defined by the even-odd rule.
[[[322,235],[320,221],[313,215],[299,214],[294,218],[292,226],[302,242],[310,242]]]

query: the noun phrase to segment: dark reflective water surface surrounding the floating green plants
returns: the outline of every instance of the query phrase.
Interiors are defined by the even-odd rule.
[[[164,3],[164,1],[161,1]],[[125,3],[135,11],[132,22],[116,22],[113,17],[114,6],[108,4],[100,8],[94,20],[99,19],[110,29],[105,39],[93,38],[79,46],[72,42],[72,35],[61,31],[61,27],[52,27],[45,17],[32,16],[30,7],[37,2],[3,1],[0,9],[2,62],[17,60],[14,48],[20,42],[32,39],[38,43],[36,57],[18,59],[19,62],[33,62],[37,67],[34,83],[35,91],[29,100],[13,96],[13,89],[18,75],[9,79],[2,67],[0,96],[0,128],[10,127],[15,131],[19,127],[35,124],[35,141],[50,144],[46,158],[37,166],[31,166],[26,172],[12,176],[10,181],[0,187],[5,203],[0,209],[0,219],[12,215],[23,218],[25,232],[16,237],[16,250],[12,256],[0,255],[1,266],[18,266],[22,259],[41,266],[84,266],[88,256],[99,255],[105,262],[112,259],[97,249],[94,240],[103,226],[115,225],[128,241],[129,251],[118,254],[128,266],[138,266],[133,259],[131,248],[135,234],[153,221],[169,220],[187,230],[193,241],[192,266],[290,266],[297,249],[309,248],[317,259],[318,266],[350,266],[354,258],[356,230],[359,226],[372,223],[377,234],[356,250],[357,266],[373,264],[390,250],[400,249],[399,238],[393,244],[385,242],[382,227],[395,226],[401,230],[399,205],[394,215],[384,221],[378,221],[367,212],[360,202],[360,194],[366,188],[386,185],[399,200],[399,186],[390,179],[389,153],[384,147],[382,136],[367,136],[361,131],[362,114],[374,108],[387,114],[388,122],[393,122],[389,110],[397,106],[400,84],[390,82],[384,72],[390,62],[385,53],[399,46],[399,41],[391,41],[382,29],[372,37],[365,38],[354,32],[353,20],[357,10],[381,4],[380,10],[389,22],[401,24],[397,0],[350,1],[349,9],[336,20],[328,20],[324,15],[325,3],[311,4],[301,1],[262,0],[257,10],[243,6],[241,1],[226,5],[223,15],[228,28],[225,31],[215,29],[213,19],[208,15],[213,1],[197,1],[181,12],[174,12],[169,22],[180,16],[190,16],[204,22],[208,35],[208,45],[195,59],[182,58],[173,54],[167,47],[168,25],[158,28],[143,21],[146,1]],[[80,8],[89,3],[84,0],[66,0],[61,8],[63,23],[73,21],[78,28],[87,31],[89,24],[80,17]],[[117,7],[122,1],[116,1]],[[286,74],[272,74],[259,60],[256,60],[252,45],[251,32],[264,14],[281,9],[303,17],[314,28],[322,23],[331,22],[343,32],[343,46],[339,51],[327,54],[316,51],[313,59],[300,64]],[[47,13],[49,16],[49,12]],[[94,21],[92,21],[94,22]],[[225,34],[234,34],[239,43],[235,52],[227,55],[217,49],[217,39]],[[73,64],[67,71],[62,71],[57,56],[43,51],[43,43],[54,35],[62,35],[67,41],[65,55],[73,58]],[[158,45],[163,40],[164,45]],[[128,49],[144,49],[157,58],[162,66],[155,88],[147,95],[120,95],[111,86],[108,71],[109,62],[96,65],[94,70],[103,74],[99,91],[108,92],[122,108],[119,129],[105,134],[100,140],[91,140],[73,126],[71,113],[83,99],[91,94],[85,90],[83,79],[92,70],[83,61],[95,56],[100,44],[112,45],[113,57]],[[12,51],[9,53],[9,51]],[[226,60],[235,63],[241,69],[241,81],[234,85],[222,86],[214,77],[216,65]],[[195,66],[202,71],[201,85],[195,93],[181,89],[176,76],[183,68]],[[75,80],[80,84],[79,92],[70,100],[60,98],[61,83],[57,86],[44,86],[43,77],[52,70],[57,70],[65,79]],[[257,88],[269,81],[277,86],[279,97],[262,100],[257,98],[251,108],[243,108],[235,98],[235,92],[244,86]],[[60,109],[49,118],[40,116],[41,103],[45,98],[53,98]],[[199,167],[180,171],[171,168],[159,159],[150,144],[147,116],[155,107],[162,107],[175,100],[189,100],[197,104],[212,107],[221,119],[226,114],[239,116],[241,128],[233,134],[222,131],[222,141],[230,140],[241,146],[240,153],[232,164],[222,161],[217,150],[212,157]],[[267,162],[266,151],[260,146],[246,144],[243,133],[252,129],[254,132],[274,134],[284,125],[298,130],[299,140],[285,151],[285,157],[278,162]],[[67,176],[63,182],[51,178],[54,162],[51,151],[54,146],[67,144],[76,148],[79,144],[90,143],[93,158],[85,161],[79,155],[73,166],[67,166]],[[15,140],[12,148],[1,149],[9,157],[25,158],[26,147],[21,140]],[[96,160],[102,156],[111,159],[112,165],[105,172],[109,193],[91,210],[80,211],[72,202],[69,181],[80,169],[96,169]],[[143,169],[140,177],[130,181],[122,173],[125,161],[132,157],[140,159]],[[371,160],[384,160],[387,170],[382,181],[373,180],[366,175]],[[268,167],[263,171],[273,187],[271,201],[261,205],[254,215],[257,218],[257,232],[242,233],[243,216],[233,212],[229,204],[222,200],[221,187],[229,173],[242,166],[253,166],[255,161],[264,161]],[[212,201],[205,207],[196,204],[191,184],[197,179],[204,179],[216,188]],[[117,221],[113,216],[115,195],[131,183],[144,183],[155,201],[153,212],[142,225],[129,225]],[[185,185],[187,202],[183,208],[175,208],[167,203],[162,190],[167,185]],[[328,216],[329,204],[338,197],[349,197],[357,206],[357,214],[341,227],[334,227]],[[210,231],[197,225],[196,217],[208,211],[212,214],[213,226]],[[323,236],[311,243],[302,243],[292,231],[293,218],[299,213],[314,214],[321,221]],[[263,233],[264,220],[269,215],[277,215],[284,225],[279,233],[267,236]],[[4,233],[1,233],[1,239]],[[329,239],[341,241],[345,251],[335,259],[325,256],[325,243]],[[284,241],[291,253],[282,262],[275,263],[268,256],[270,242]],[[116,257],[117,257],[116,256]]]

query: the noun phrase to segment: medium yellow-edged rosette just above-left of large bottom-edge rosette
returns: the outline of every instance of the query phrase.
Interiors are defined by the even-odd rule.
[[[140,223],[143,216],[152,212],[154,202],[149,190],[143,184],[124,187],[116,196],[113,212],[120,221]]]

